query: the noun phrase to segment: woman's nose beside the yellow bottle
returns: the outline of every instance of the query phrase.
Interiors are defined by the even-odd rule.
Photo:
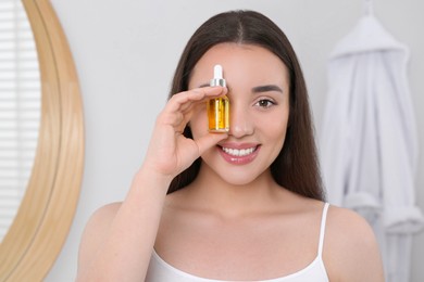
[[[230,104],[229,107],[229,131],[228,134],[235,138],[250,136],[254,131],[254,126],[246,107]]]

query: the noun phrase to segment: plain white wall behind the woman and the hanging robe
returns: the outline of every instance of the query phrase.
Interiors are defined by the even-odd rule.
[[[67,35],[83,92],[86,163],[80,201],[67,242],[46,281],[74,281],[83,228],[95,209],[121,201],[141,164],[152,124],[188,37],[211,15],[252,9],[290,38],[303,66],[320,131],[326,99],[326,61],[362,14],[362,0],[148,1],[52,0]],[[410,84],[424,151],[424,3],[376,0],[381,22],[411,50]],[[416,181],[424,209],[424,154]],[[412,281],[424,281],[424,233],[415,238]]]

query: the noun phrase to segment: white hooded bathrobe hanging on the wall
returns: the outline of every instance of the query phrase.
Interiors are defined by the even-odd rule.
[[[417,133],[407,79],[409,50],[372,14],[335,47],[320,157],[328,202],[373,227],[390,281],[409,281]]]

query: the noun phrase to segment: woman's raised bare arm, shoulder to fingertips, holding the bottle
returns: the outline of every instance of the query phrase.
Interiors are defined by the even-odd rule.
[[[144,281],[172,179],[226,138],[211,133],[191,140],[182,132],[197,105],[225,93],[225,88],[207,87],[170,99],[125,201],[90,218],[80,243],[77,281]]]

